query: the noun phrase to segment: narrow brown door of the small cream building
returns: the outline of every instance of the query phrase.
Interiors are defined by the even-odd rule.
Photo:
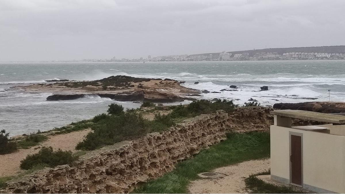
[[[290,181],[302,186],[302,136],[290,135]]]

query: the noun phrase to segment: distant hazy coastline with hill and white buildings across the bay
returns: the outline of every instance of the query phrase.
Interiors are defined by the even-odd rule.
[[[344,60],[345,46],[265,48],[242,51],[209,52],[193,55],[167,55],[147,58],[8,61],[8,62],[178,62],[178,61],[276,61],[276,60]]]

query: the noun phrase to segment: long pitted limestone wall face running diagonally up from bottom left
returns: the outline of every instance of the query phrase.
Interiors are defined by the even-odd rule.
[[[171,130],[120,142],[82,156],[75,164],[45,168],[8,182],[0,193],[127,193],[140,182],[226,139],[223,110],[185,120]]]

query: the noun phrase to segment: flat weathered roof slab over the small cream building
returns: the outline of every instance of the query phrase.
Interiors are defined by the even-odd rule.
[[[326,123],[345,124],[345,116],[343,115],[317,113],[305,110],[273,110],[270,111],[270,114],[304,120],[315,120]]]

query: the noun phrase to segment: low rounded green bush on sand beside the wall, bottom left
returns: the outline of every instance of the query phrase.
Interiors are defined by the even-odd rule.
[[[42,147],[38,153],[26,156],[21,161],[20,168],[28,170],[38,164],[55,167],[70,164],[76,159],[77,157],[73,156],[71,151],[62,151],[61,149],[53,151],[52,147]]]

